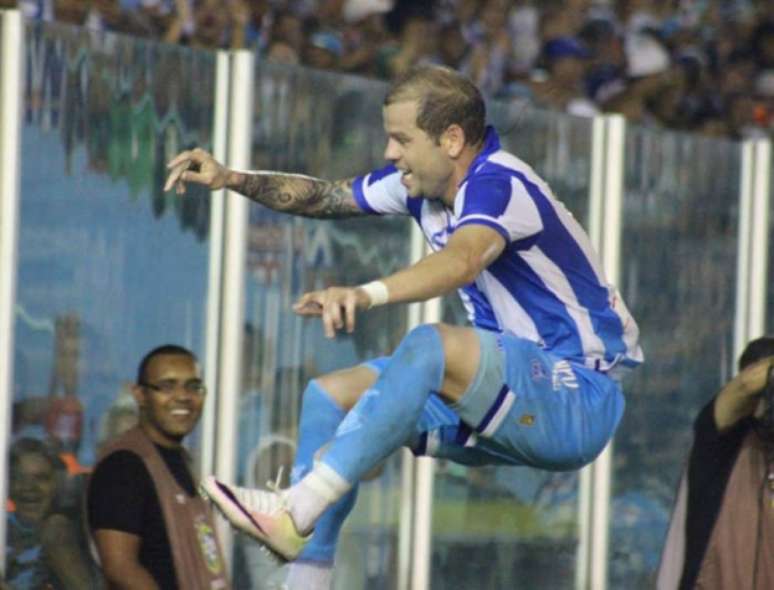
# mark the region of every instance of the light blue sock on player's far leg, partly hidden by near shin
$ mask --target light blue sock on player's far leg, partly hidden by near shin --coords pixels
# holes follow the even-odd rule
[[[302,398],[298,448],[291,474],[292,484],[298,483],[311,471],[315,453],[333,439],[345,415],[346,412],[317,381],[309,382]],[[356,497],[357,486],[323,513],[315,524],[311,541],[299,555],[299,560],[333,563],[341,526],[355,505]]]

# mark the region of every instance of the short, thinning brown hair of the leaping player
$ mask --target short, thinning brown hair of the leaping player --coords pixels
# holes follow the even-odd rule
[[[468,78],[444,66],[416,66],[398,77],[387,91],[384,106],[417,100],[416,125],[436,142],[450,125],[459,125],[465,142],[484,138],[486,106],[481,92]]]

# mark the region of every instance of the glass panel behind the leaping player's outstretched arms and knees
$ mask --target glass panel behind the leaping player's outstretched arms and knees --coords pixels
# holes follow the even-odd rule
[[[268,64],[256,77],[254,167],[337,179],[383,164],[382,84]],[[352,336],[329,341],[319,320],[301,319],[291,304],[306,291],[405,266],[410,222],[302,220],[253,205],[248,240],[238,475],[263,486],[280,466],[290,472],[306,382],[390,353],[406,330],[405,307],[377,308],[359,316]],[[395,587],[399,489],[397,458],[360,487],[342,533],[336,588]],[[255,543],[237,539],[237,587],[275,587],[283,576]]]

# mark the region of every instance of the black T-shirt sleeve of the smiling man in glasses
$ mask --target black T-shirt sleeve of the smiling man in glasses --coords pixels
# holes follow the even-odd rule
[[[138,455],[131,451],[108,455],[97,465],[89,482],[89,527],[140,535],[151,493],[155,493],[153,482]]]

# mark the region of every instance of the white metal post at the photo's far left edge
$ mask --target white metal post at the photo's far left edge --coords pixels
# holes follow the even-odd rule
[[[0,498],[8,497],[8,446],[13,404],[14,308],[21,175],[21,116],[24,88],[24,20],[18,10],[0,11]],[[3,504],[5,506],[5,504]],[[6,518],[0,519],[5,547]],[[5,574],[5,552],[0,557]]]

